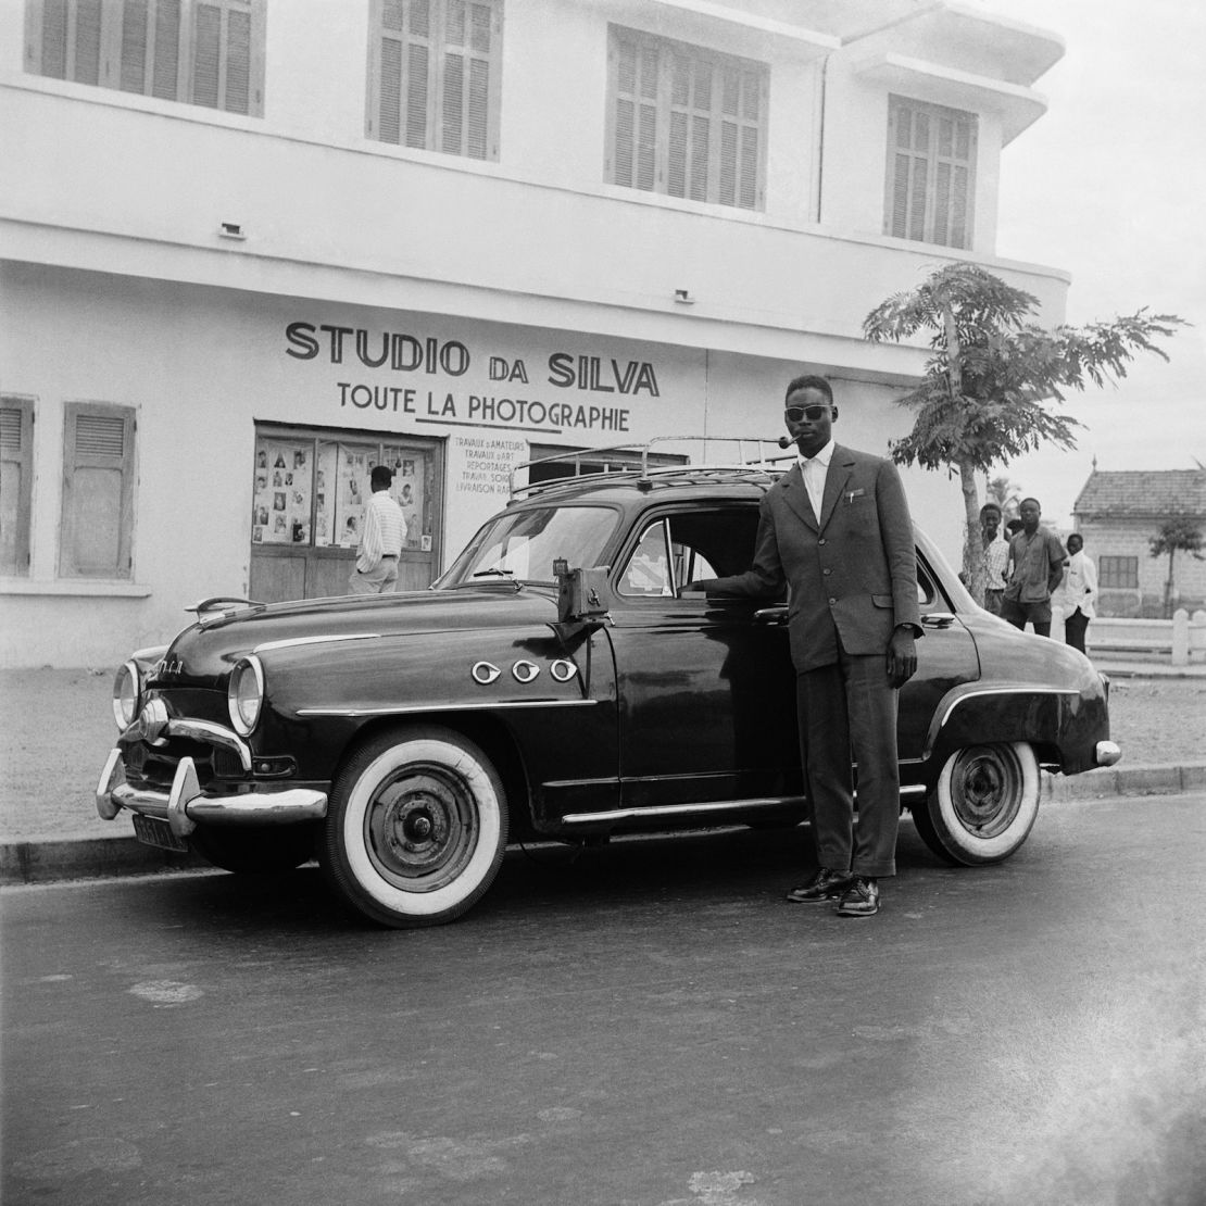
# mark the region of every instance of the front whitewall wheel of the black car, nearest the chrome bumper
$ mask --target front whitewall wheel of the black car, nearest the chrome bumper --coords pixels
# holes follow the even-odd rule
[[[451,921],[493,882],[507,797],[481,748],[447,728],[380,733],[332,789],[321,862],[365,917],[396,927]]]

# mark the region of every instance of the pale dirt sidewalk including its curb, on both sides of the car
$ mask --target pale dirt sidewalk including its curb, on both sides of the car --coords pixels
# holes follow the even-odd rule
[[[1206,790],[1206,666],[1100,662],[1114,684],[1114,767],[1043,775],[1043,802]],[[104,821],[94,792],[116,728],[113,672],[0,672],[0,884],[207,866],[142,845],[130,820]]]

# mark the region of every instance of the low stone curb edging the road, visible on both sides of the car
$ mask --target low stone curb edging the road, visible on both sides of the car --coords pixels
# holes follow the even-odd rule
[[[1070,779],[1043,771],[1040,791],[1040,800],[1046,804],[1119,796],[1179,796],[1206,791],[1206,762],[1105,767]],[[135,837],[30,838],[0,843],[0,885],[7,886],[203,870],[212,868],[198,855],[144,845]]]

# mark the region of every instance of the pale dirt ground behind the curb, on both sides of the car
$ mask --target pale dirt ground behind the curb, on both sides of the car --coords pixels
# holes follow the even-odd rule
[[[116,730],[113,669],[0,671],[0,839],[129,835],[94,792]],[[1111,730],[1124,766],[1206,760],[1206,677],[1113,678]]]

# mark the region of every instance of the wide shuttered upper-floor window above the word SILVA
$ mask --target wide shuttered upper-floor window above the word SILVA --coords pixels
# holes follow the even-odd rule
[[[613,25],[607,180],[762,209],[768,80],[765,64]]]

